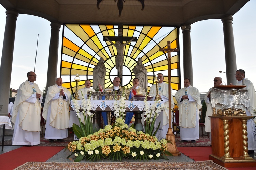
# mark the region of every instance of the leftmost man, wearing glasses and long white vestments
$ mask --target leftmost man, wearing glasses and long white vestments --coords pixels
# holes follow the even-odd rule
[[[40,119],[42,91],[34,83],[37,75],[30,71],[28,80],[23,82],[15,98],[12,122],[15,124],[12,145],[40,144]]]

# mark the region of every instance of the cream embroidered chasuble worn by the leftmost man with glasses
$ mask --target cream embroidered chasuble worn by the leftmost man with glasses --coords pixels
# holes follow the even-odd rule
[[[32,82],[31,82],[32,84]],[[12,114],[12,122],[15,123],[19,113],[19,126],[26,131],[39,132],[41,119],[41,100],[36,98],[36,93],[43,95],[37,84],[32,85],[28,80],[23,82],[18,89]]]

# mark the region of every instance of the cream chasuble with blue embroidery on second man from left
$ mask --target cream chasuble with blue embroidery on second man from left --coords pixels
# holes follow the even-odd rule
[[[66,99],[62,95],[59,96],[60,90],[63,89]],[[66,129],[69,127],[69,102],[70,92],[63,86],[57,84],[48,88],[44,108],[43,118],[47,120],[48,109],[50,111],[50,125],[56,129]]]

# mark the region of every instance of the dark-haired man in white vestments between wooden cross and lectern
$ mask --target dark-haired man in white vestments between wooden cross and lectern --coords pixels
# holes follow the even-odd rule
[[[184,79],[184,87],[176,92],[175,98],[179,106],[179,126],[181,140],[191,140],[196,143],[199,139],[199,109],[202,107],[197,88],[190,86],[190,79]]]

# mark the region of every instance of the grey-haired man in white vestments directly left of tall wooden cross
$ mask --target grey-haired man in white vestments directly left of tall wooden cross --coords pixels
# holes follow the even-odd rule
[[[165,78],[163,77],[162,73],[158,73],[157,76],[160,79],[159,82],[158,82],[158,93],[160,95],[160,100],[163,101],[165,106],[167,106],[167,107],[169,107],[169,109],[173,110],[173,108],[174,108],[173,97],[171,98],[171,106],[169,106],[168,84],[163,82],[163,80]],[[149,92],[148,95],[153,97],[152,100],[155,99],[155,96],[156,96],[156,85],[155,84],[153,84],[151,86],[150,92]],[[171,96],[172,96],[172,87],[171,87]],[[172,114],[171,114],[171,119],[173,119]],[[166,134],[167,134],[167,131],[168,131],[168,128],[169,128],[169,110],[168,109],[164,109],[161,112],[161,114],[158,116],[158,118],[156,119],[155,129],[157,128],[160,121],[161,121],[161,123],[160,123],[159,129],[158,129],[158,132],[156,133],[156,137],[158,139],[165,138]]]

